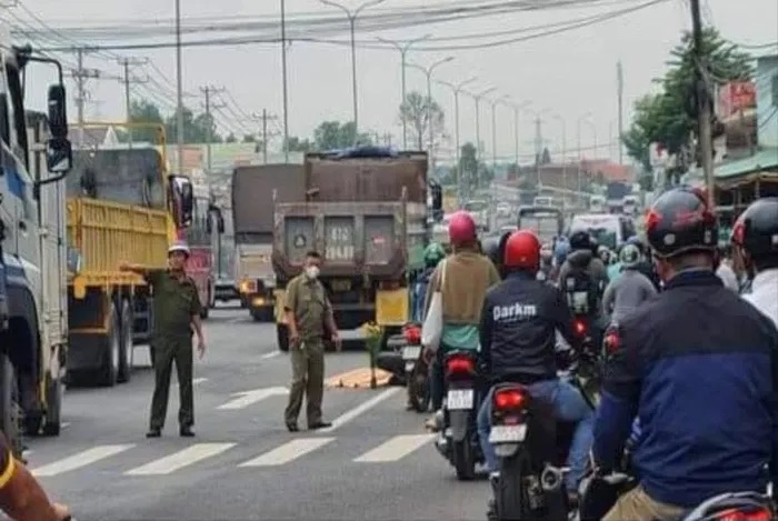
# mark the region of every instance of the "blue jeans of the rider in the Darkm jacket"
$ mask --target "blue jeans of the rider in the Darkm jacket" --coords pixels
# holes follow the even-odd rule
[[[578,389],[565,380],[540,381],[527,385],[527,389],[533,398],[550,403],[558,420],[577,423],[568,457],[570,472],[565,478],[565,484],[569,491],[578,490],[578,483],[584,478],[587,459],[591,450],[595,412],[586,403]],[[493,392],[495,388],[492,387],[483,399],[481,409],[478,411],[478,438],[490,472],[499,470],[495,448],[489,443],[491,397]]]

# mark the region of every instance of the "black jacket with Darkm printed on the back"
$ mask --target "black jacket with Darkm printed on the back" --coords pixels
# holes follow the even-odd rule
[[[557,378],[556,331],[576,347],[572,317],[562,293],[535,279],[511,273],[491,288],[481,312],[480,362],[492,382],[533,383]]]

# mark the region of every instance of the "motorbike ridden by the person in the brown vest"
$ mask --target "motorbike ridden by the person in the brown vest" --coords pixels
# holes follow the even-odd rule
[[[478,442],[476,417],[478,414],[479,377],[476,353],[452,351],[443,359],[446,400],[437,414],[440,424],[436,448],[449,460],[460,481],[476,477],[476,465],[483,463]]]

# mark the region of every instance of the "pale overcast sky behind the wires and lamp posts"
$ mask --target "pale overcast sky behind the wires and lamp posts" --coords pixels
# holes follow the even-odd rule
[[[345,6],[357,7],[362,0],[340,0]],[[9,0],[0,1],[0,6]],[[442,0],[429,0],[440,4]],[[128,24],[168,24],[174,16],[173,0],[20,0],[20,4],[9,8],[2,17],[13,26],[19,19],[27,27],[43,29],[32,18],[34,13],[50,28],[72,26],[97,26],[127,20]],[[451,0],[461,4],[460,0]],[[478,2],[476,2],[478,3]],[[536,2],[542,4],[542,1]],[[422,34],[433,38],[482,34],[493,31],[518,31],[523,28],[545,26],[553,22],[575,20],[630,7],[637,0],[612,1],[599,8],[538,9],[517,11],[496,17],[469,18],[446,23],[413,26],[407,29],[383,31],[360,31],[356,22],[358,41],[375,42],[377,37],[391,40],[408,40]],[[363,12],[380,13],[388,9],[403,9],[422,6],[422,0],[385,0],[380,6],[367,8]],[[225,16],[279,16],[279,0],[181,0],[182,17]],[[327,7],[319,0],[286,0],[288,17],[296,12],[316,16],[340,16],[341,11]],[[26,8],[26,9],[24,9]],[[0,7],[0,13],[3,12]],[[142,13],[142,14],[141,14]],[[762,44],[778,41],[778,2],[776,0],[702,0],[704,23],[716,26],[731,41],[744,44]],[[528,159],[535,149],[536,114],[541,113],[540,130],[545,146],[553,158],[559,158],[565,144],[567,157],[573,158],[580,138],[581,147],[591,148],[597,143],[598,157],[616,159],[618,136],[617,62],[624,67],[625,129],[629,126],[631,106],[636,99],[656,87],[651,80],[666,70],[670,49],[679,41],[681,31],[690,27],[688,0],[667,0],[614,20],[579,28],[568,32],[477,50],[409,51],[408,61],[427,66],[449,56],[448,63],[436,69],[433,79],[459,82],[478,77],[472,90],[493,87],[495,96],[509,96],[515,103],[527,103],[530,111],[522,111],[519,120],[521,160]],[[201,34],[199,37],[212,37]],[[193,36],[192,38],[198,38]],[[330,39],[348,40],[348,22],[343,18],[342,28]],[[510,38],[510,37],[507,37]],[[172,41],[172,37],[169,37]],[[488,39],[487,39],[488,40]],[[116,41],[116,39],[113,40]],[[149,41],[149,38],[133,42]],[[480,40],[449,40],[429,43],[446,44],[481,43]],[[41,41],[36,43],[40,44]],[[67,33],[49,33],[44,44],[61,47],[86,43],[73,40]],[[94,40],[90,40],[94,42]],[[20,43],[20,42],[17,42]],[[375,44],[375,43],[371,43]],[[421,44],[419,46],[421,47]],[[778,48],[775,48],[778,52]],[[176,86],[176,61],[173,49],[116,51],[117,54],[132,58],[148,58],[156,66],[138,66],[133,74],[147,80],[132,86],[133,97],[156,99],[171,108]],[[58,54],[68,66],[76,62],[73,53]],[[122,120],[124,118],[123,86],[116,79],[121,68],[114,58],[87,56],[86,67],[98,69],[102,78],[87,82],[90,101],[87,116],[97,120]],[[215,104],[229,107],[217,111],[217,121],[222,130],[236,132],[261,131],[259,119],[249,117],[261,114],[263,110],[272,117],[268,129],[280,134],[282,130],[282,74],[280,43],[255,43],[233,47],[186,48],[182,52],[183,89],[200,93],[203,86],[225,88],[215,96]],[[161,74],[163,73],[164,77]],[[50,71],[31,72],[32,87],[28,99],[33,106],[43,107],[46,84],[51,80]],[[292,42],[288,51],[289,79],[289,133],[309,137],[322,120],[351,120],[351,58],[348,46],[332,46],[313,42]],[[395,144],[401,142],[401,126],[398,106],[401,99],[400,53],[392,49],[357,49],[357,79],[360,130],[385,134],[390,132]],[[73,82],[68,83],[73,94]],[[422,72],[407,69],[407,90],[426,91],[426,77]],[[433,83],[432,97],[446,113],[446,129],[453,134],[453,94],[450,89]],[[71,96],[72,98],[72,96]],[[201,106],[202,94],[187,98],[184,103]],[[201,110],[201,107],[198,107]],[[74,106],[69,107],[71,119],[76,116]],[[533,111],[533,113],[532,113]],[[476,117],[472,99],[460,98],[460,141],[475,141]],[[491,107],[481,102],[480,129],[485,143],[483,154],[490,158],[492,143],[498,157],[512,158],[515,153],[513,111],[497,108],[497,136],[492,139]],[[580,124],[578,122],[581,121]],[[577,131],[580,127],[580,134]],[[565,130],[565,132],[562,132]],[[565,139],[562,137],[565,133]],[[170,137],[174,139],[174,137]],[[276,140],[280,146],[280,140]],[[594,156],[585,151],[585,157]]]

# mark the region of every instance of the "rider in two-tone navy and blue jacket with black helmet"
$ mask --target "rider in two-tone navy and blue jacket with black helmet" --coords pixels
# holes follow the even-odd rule
[[[604,521],[671,521],[714,495],[778,482],[778,330],[716,277],[704,193],[667,191],[646,229],[665,291],[615,328],[594,444],[596,467],[614,469],[637,415],[640,483]]]

